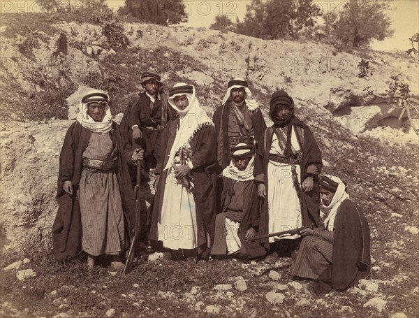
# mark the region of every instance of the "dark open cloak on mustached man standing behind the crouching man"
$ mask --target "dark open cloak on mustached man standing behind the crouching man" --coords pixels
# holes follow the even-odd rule
[[[228,99],[225,104],[217,108],[214,112],[214,116],[212,118],[214,125],[215,125],[215,133],[216,133],[216,153],[217,153],[217,161],[219,166],[221,167],[221,171],[223,168],[226,168],[228,164],[230,164],[230,143],[228,142],[228,119],[230,116],[230,105],[231,99]],[[247,107],[244,104],[244,107]],[[251,124],[253,133],[255,135],[255,140],[259,140],[260,136],[263,135],[263,131],[266,129],[265,120],[263,120],[262,111],[260,108],[256,108],[256,110],[247,110],[250,112]],[[221,154],[221,155],[219,155]],[[219,171],[219,172],[221,172]]]

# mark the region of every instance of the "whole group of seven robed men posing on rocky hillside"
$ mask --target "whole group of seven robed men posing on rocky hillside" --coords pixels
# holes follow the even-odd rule
[[[143,73],[141,84],[144,92],[128,104],[115,133],[114,147],[108,147],[100,156],[96,150],[103,147],[101,135],[112,136],[113,132],[102,129],[106,112],[110,114],[109,96],[93,92],[82,100],[80,112],[90,115],[94,127],[79,116],[61,151],[57,197],[63,202],[54,224],[55,236],[59,238],[54,244],[57,259],[71,254],[67,251],[69,246],[74,254],[77,243],[68,245],[72,235],[78,235],[82,241],[79,249],[91,259],[101,254],[123,254],[132,238],[131,194],[138,178],[135,171],[141,163],[142,199],[149,202],[149,207],[144,201],[140,204],[138,248],[151,243],[154,249],[171,252],[175,259],[187,256],[207,259],[212,255],[219,259],[264,258],[265,263],[271,264],[278,257],[293,253],[293,275],[317,280],[318,292],[331,288],[343,291],[369,275],[367,221],[358,205],[349,199],[344,182],[321,175],[321,151],[307,124],[295,116],[294,101],[284,90],[272,94],[269,115],[274,124],[266,127],[245,80],[235,78],[228,82],[221,106],[212,119],[201,108],[193,85],[179,82],[167,96],[161,77],[154,71]],[[101,104],[106,111],[101,113],[101,119],[95,119],[93,108]],[[75,131],[82,129],[87,130],[75,136]],[[89,138],[84,137],[86,134]],[[98,135],[98,140],[90,135]],[[84,140],[81,148],[80,140]],[[117,164],[105,170],[103,166],[112,154]],[[67,170],[74,172],[61,173],[64,166],[69,166],[66,161],[71,160],[73,164]],[[90,161],[99,162],[96,171]],[[113,171],[119,178],[119,205],[124,213],[115,217],[108,212],[101,228],[119,233],[119,240],[115,239],[119,249],[103,247],[112,238],[108,235],[109,238],[101,239],[102,249],[91,254],[89,244],[84,241],[94,226],[91,219],[96,212],[84,212],[83,205],[95,205],[92,200],[96,200],[94,192],[99,189],[87,189],[85,181],[84,186],[80,185],[80,173],[82,181],[89,175],[102,173],[99,179],[103,184],[104,175]],[[155,195],[149,187],[153,178]],[[105,188],[113,189],[112,186]],[[82,203],[82,190],[91,193],[88,203]],[[74,199],[75,191],[78,200]],[[64,199],[64,192],[73,200]],[[110,201],[108,192],[103,196],[106,200],[102,201]],[[109,205],[107,209],[112,210]],[[321,205],[326,215],[324,224]],[[66,219],[68,213],[63,213],[63,206],[73,211],[75,219]],[[115,219],[121,218],[125,220],[123,234],[120,220],[115,223]],[[77,226],[78,219],[81,231],[73,234],[70,229]],[[300,249],[295,253],[298,245]],[[336,246],[339,251],[334,252]],[[95,261],[91,263],[96,265]]]

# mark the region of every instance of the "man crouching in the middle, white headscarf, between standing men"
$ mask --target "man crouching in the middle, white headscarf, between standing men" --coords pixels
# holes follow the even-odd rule
[[[253,146],[238,144],[232,148],[231,158],[222,173],[221,213],[216,215],[211,254],[234,254],[245,259],[264,256],[265,249],[258,242],[248,242],[256,237],[260,217]]]

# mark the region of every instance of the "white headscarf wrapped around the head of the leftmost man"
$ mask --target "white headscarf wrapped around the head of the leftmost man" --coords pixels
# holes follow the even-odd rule
[[[105,94],[108,97],[105,98],[103,96],[94,96],[94,94]],[[89,97],[89,99],[87,99],[86,101],[84,101],[84,103],[80,101],[79,113],[77,115],[76,120],[80,122],[82,127],[84,127],[85,129],[89,129],[89,131],[93,131],[94,133],[108,133],[112,130],[112,114],[110,113],[110,108],[108,104],[108,101],[110,101],[108,93],[98,89],[92,89],[91,91],[87,92],[87,94],[84,95],[83,98],[88,95],[92,96]],[[104,112],[105,116],[103,117],[101,122],[95,122],[93,118],[91,118],[87,113],[87,105],[89,103],[106,104]]]

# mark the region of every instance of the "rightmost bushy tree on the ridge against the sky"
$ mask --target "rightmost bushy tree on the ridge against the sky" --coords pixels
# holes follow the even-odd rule
[[[361,48],[373,40],[382,41],[393,34],[386,14],[390,0],[349,0],[341,12],[331,13],[325,29],[342,48]]]

